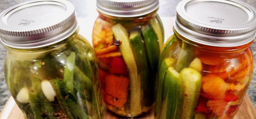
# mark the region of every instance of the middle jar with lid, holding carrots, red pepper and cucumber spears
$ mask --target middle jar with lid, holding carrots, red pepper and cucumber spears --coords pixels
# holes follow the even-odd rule
[[[97,0],[93,46],[104,102],[109,110],[133,117],[151,109],[163,45],[158,0]]]

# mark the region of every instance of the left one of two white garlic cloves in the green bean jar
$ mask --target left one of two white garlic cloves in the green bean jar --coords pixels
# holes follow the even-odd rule
[[[16,99],[21,103],[29,102],[29,90],[27,89],[27,87],[23,87],[21,91],[19,91]]]

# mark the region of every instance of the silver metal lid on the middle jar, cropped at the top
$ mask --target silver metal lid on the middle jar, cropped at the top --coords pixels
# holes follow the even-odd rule
[[[137,17],[158,9],[159,0],[97,0],[97,9],[115,17]]]

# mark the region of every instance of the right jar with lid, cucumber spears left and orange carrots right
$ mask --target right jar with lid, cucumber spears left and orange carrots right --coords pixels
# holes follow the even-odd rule
[[[255,8],[184,0],[176,11],[159,59],[155,118],[232,119],[253,74]]]

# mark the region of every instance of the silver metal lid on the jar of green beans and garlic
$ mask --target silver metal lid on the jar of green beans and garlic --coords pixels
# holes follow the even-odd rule
[[[0,39],[18,49],[47,46],[78,28],[74,6],[66,0],[31,0],[0,14]]]

